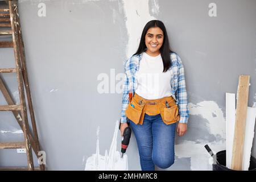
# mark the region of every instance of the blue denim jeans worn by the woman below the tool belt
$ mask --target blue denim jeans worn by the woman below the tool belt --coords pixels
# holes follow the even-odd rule
[[[168,168],[174,164],[174,142],[176,123],[166,125],[161,115],[144,116],[143,125],[130,127],[137,140],[142,171],[154,171],[155,165]]]

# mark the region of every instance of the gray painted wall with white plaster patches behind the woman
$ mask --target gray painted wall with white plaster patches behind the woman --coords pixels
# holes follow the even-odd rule
[[[38,16],[40,2],[46,4],[45,17]],[[208,15],[211,2],[217,5],[216,17]],[[115,76],[123,73],[123,62],[137,49],[136,39],[144,24],[159,19],[166,25],[171,48],[183,60],[192,110],[187,134],[176,137],[175,164],[167,170],[210,170],[209,154],[203,146],[225,150],[225,93],[237,92],[239,75],[250,75],[248,105],[256,102],[256,1],[129,3],[19,1],[28,76],[47,169],[83,170],[85,160],[96,152],[98,127],[101,155],[109,150],[121,112],[120,80]],[[0,59],[1,68],[14,67],[13,49],[0,49]],[[18,98],[15,74],[1,77]],[[98,86],[108,81],[109,92],[99,93]],[[0,105],[4,104],[0,94]],[[15,134],[20,129],[11,113],[0,113],[0,130],[1,142],[23,140],[22,134]],[[117,143],[119,151],[119,135]],[[254,156],[255,146],[254,139]],[[140,170],[134,135],[127,156],[129,170]],[[26,166],[26,155],[1,150],[0,161],[1,166]]]

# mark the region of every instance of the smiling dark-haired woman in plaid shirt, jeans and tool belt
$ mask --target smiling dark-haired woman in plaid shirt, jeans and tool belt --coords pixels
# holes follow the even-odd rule
[[[183,136],[188,113],[183,64],[170,50],[163,22],[151,20],[125,64],[120,126],[121,135],[128,124],[133,130],[143,171],[174,163],[176,122]]]

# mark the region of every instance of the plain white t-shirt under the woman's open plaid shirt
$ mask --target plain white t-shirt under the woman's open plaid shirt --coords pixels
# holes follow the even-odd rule
[[[150,56],[143,52],[139,70],[135,74],[138,81],[135,93],[148,100],[171,96],[171,74],[170,71],[163,73],[161,54]]]

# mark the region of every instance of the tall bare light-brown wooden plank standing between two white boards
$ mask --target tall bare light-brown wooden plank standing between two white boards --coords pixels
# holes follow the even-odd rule
[[[237,90],[236,125],[234,130],[231,168],[240,171],[242,170],[243,162],[243,144],[245,139],[245,124],[250,84],[249,81],[250,76],[241,75],[239,77]]]

